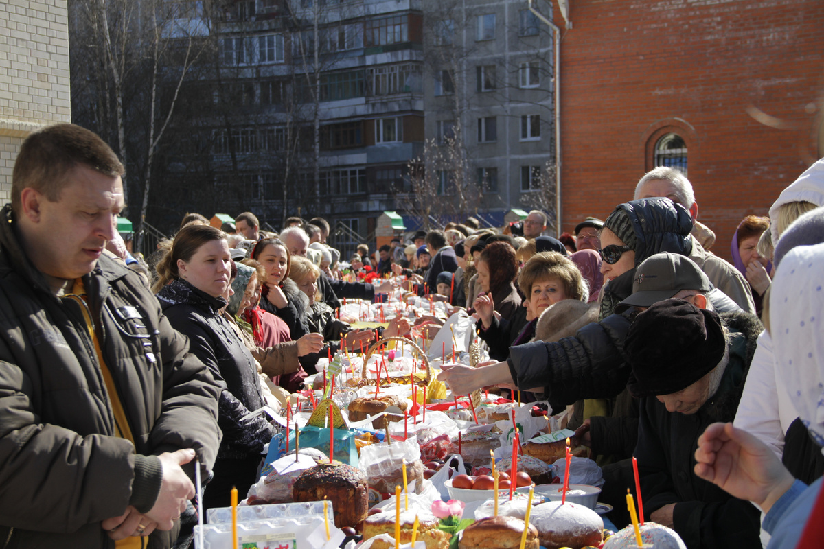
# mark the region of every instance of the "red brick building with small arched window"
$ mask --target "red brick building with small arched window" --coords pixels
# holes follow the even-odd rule
[[[824,156],[821,0],[567,0],[571,28],[552,3],[564,230],[630,200],[675,133],[729,258],[738,221]]]

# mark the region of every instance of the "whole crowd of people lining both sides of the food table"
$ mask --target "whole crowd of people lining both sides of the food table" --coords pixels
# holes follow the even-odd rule
[[[195,468],[205,508],[256,481],[276,428],[249,412],[282,407],[341,347],[438,330],[335,314],[399,284],[476,320],[493,361],[444,366],[453,393],[499,386],[568,412],[619,528],[637,458],[645,517],[687,547],[822,539],[824,161],[742,220],[733,263],[667,167],[558,239],[533,211],[341,258],[321,217],[273,234],[250,212],[222,229],[190,213],[147,262],[116,231],[123,174],[71,124],[16,159],[0,227],[2,547],[185,547]]]

